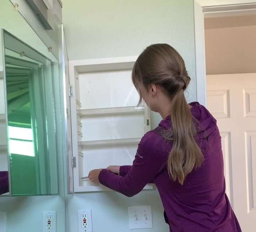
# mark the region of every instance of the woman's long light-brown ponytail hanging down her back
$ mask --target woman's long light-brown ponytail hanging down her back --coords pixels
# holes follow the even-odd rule
[[[194,140],[196,129],[192,114],[182,90],[172,99],[171,133],[173,145],[167,161],[169,176],[180,184],[193,168],[201,166],[204,158],[201,149]]]

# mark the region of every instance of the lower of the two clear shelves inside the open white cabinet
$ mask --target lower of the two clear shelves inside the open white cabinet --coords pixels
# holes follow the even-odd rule
[[[104,146],[104,145],[127,145],[127,144],[138,144],[141,138],[132,139],[108,139],[108,140],[94,140],[94,141],[81,141],[78,142],[81,146]]]

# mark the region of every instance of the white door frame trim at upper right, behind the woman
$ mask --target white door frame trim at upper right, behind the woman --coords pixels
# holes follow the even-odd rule
[[[197,101],[206,104],[204,18],[256,14],[256,0],[194,0]]]

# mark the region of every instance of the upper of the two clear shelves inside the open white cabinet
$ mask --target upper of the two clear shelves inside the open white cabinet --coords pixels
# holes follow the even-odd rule
[[[82,116],[142,113],[144,112],[144,106],[112,107],[112,108],[101,108],[101,109],[80,109],[78,110],[78,112]]]

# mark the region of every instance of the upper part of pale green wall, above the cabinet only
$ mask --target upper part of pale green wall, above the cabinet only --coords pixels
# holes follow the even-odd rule
[[[168,43],[182,55],[191,76],[185,93],[196,100],[193,0],[63,0],[69,60],[139,55]],[[153,124],[160,120],[153,114]]]

